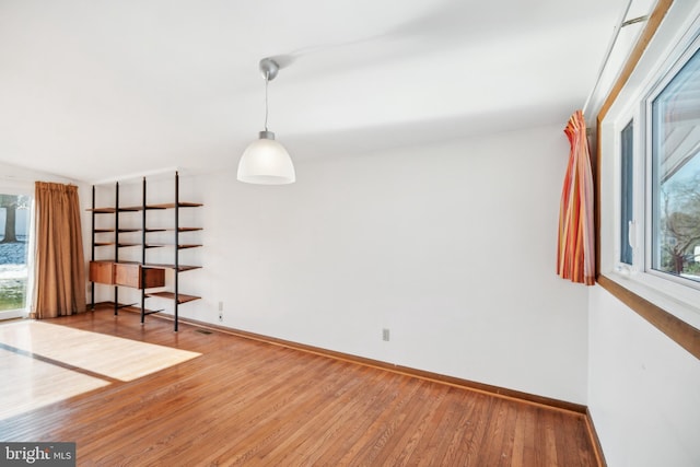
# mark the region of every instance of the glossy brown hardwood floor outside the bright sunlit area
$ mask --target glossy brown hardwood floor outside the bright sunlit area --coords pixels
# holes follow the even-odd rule
[[[0,441],[74,441],[79,466],[597,465],[581,413],[131,313],[43,323],[201,353],[0,420]]]

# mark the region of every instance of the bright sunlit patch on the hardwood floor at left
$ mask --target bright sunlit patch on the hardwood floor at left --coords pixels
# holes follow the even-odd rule
[[[201,353],[28,319],[0,325],[0,420]]]

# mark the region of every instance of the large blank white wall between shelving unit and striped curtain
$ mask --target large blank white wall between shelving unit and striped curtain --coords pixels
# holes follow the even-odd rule
[[[587,292],[555,275],[562,128],[300,157],[291,186],[241,184],[235,161],[184,177],[205,267],[180,313],[585,402]]]

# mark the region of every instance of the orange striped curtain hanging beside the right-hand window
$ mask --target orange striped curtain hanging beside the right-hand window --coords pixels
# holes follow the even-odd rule
[[[564,129],[571,143],[559,207],[557,273],[572,282],[595,283],[593,173],[583,113],[576,110]]]

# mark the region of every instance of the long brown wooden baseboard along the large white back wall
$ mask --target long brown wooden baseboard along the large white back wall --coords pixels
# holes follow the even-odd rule
[[[98,310],[101,307],[112,307],[114,306],[109,302],[103,302],[100,304],[95,304],[95,308]],[[125,307],[121,311],[130,312],[130,313],[140,313],[137,308]],[[149,318],[160,318],[172,320],[173,317],[170,315],[151,315]],[[368,359],[364,357],[358,357],[349,353],[337,352],[335,350],[323,349],[319,347],[307,346],[304,343],[299,343],[290,340],[278,339],[275,337],[264,336],[260,334],[249,332],[241,329],[230,328],[225,326],[219,326],[211,323],[205,323],[197,319],[178,317],[180,323],[186,323],[199,328],[209,329],[218,332],[224,332],[232,336],[242,337],[245,339],[257,340],[260,342],[270,343],[273,346],[285,347],[289,349],[295,349],[303,352],[314,353],[316,355],[331,358],[336,360],[341,360],[346,362],[351,362],[355,364],[361,364],[365,366],[372,366],[385,371],[390,371],[394,373],[404,374],[407,376],[418,377],[421,380],[432,381],[441,384],[446,384],[451,386],[460,387],[464,389],[469,389],[478,393],[488,394],[491,396],[498,396],[501,398],[517,400],[521,402],[533,404],[537,406],[544,406],[550,409],[564,410],[568,412],[575,412],[582,416],[586,415],[587,407],[581,404],[569,402],[565,400],[559,400],[550,397],[538,396],[535,394],[524,393],[521,390],[509,389],[500,386],[493,386],[490,384],[478,383],[475,381],[463,380],[455,376],[447,376],[440,373],[433,373],[424,370],[417,370],[409,366],[396,365],[393,363],[383,362],[381,360]]]

